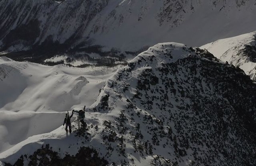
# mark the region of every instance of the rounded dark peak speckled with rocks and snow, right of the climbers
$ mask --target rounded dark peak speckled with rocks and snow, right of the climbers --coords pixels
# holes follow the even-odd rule
[[[226,81],[238,82],[230,85]],[[249,101],[251,95],[246,95],[248,100],[241,100],[239,95],[243,90],[234,91],[236,86],[245,84],[244,90],[254,95],[255,85],[241,69],[224,65],[205,50],[176,43],[157,44],[130,61],[105,86],[106,94],[109,92],[105,104],[125,107],[114,121],[118,121],[117,125],[111,122],[110,131],[118,138],[132,141],[133,148],[142,157],[155,154],[152,161],[159,159],[167,165],[195,162],[243,165],[246,160],[238,157],[239,151],[245,146],[255,146],[255,138],[242,141],[245,133],[238,133],[243,127],[235,127],[236,123],[249,127],[244,122],[249,114],[254,114],[255,119],[255,104]],[[235,103],[232,98],[236,98]],[[238,101],[245,109],[241,110],[236,104]],[[113,114],[117,108],[109,110]],[[241,111],[245,111],[242,116]],[[255,125],[254,120],[251,119],[250,124]],[[251,130],[251,134],[254,132]],[[233,142],[233,138],[238,141]],[[230,152],[230,146],[240,150]],[[227,151],[232,158],[236,156],[235,161],[227,156]],[[253,148],[246,151],[247,155],[255,152]]]

